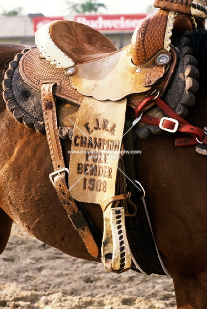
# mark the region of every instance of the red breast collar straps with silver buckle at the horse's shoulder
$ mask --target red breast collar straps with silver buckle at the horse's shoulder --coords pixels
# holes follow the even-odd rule
[[[155,96],[150,96],[146,99],[144,99],[136,108],[135,108],[135,117],[137,118],[139,112],[146,107]],[[154,99],[154,103],[161,108],[165,114],[167,114],[170,118],[173,118],[178,121],[178,130],[179,132],[183,132],[186,134],[191,134],[192,137],[190,138],[178,138],[175,140],[175,146],[185,146],[185,145],[195,145],[197,144],[197,140],[202,141],[204,144],[207,144],[207,134],[204,133],[204,131],[198,127],[190,125],[186,120],[184,120],[181,116],[176,114],[165,102],[163,102],[160,98]],[[152,117],[143,115],[141,118],[142,122],[146,122],[151,125],[157,125],[160,124],[160,118]],[[175,123],[170,120],[164,120],[162,127],[165,129],[173,130],[175,127]]]

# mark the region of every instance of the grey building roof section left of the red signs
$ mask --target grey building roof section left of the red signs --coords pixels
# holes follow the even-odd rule
[[[29,16],[0,16],[0,38],[34,35],[32,19]]]

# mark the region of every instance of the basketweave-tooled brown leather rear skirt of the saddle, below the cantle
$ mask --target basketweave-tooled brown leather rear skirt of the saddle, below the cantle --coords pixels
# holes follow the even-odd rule
[[[49,61],[40,57],[37,48],[25,53],[19,62],[19,70],[24,81],[40,91],[42,83],[57,83],[55,96],[80,105],[84,96],[75,90],[63,69],[51,66]]]

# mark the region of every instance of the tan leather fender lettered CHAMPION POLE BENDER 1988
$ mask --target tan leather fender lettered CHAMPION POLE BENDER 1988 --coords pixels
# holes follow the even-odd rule
[[[115,195],[125,113],[126,99],[100,102],[86,97],[81,104],[69,167],[69,190],[75,200],[100,204]]]

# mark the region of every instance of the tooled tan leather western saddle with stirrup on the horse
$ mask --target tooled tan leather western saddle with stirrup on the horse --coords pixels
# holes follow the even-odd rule
[[[94,257],[98,257],[99,248],[80,203],[101,205],[102,261],[104,267],[113,272],[131,267],[124,222],[125,216],[134,216],[136,205],[130,201],[131,193],[126,187],[123,156],[112,159],[109,154],[110,151],[120,154],[123,150],[126,105],[135,108],[154,92],[159,97],[164,94],[178,59],[176,50],[170,46],[172,31],[177,35],[187,30],[192,32],[195,19],[186,14],[192,15],[193,10],[202,12],[202,17],[206,14],[203,6],[199,6],[202,0],[197,0],[196,8],[195,0],[186,1],[183,11],[184,2],[155,0],[155,6],[169,11],[159,9],[143,19],[134,31],[131,44],[121,50],[95,29],[63,20],[39,28],[35,37],[38,48],[31,49],[20,59],[22,78],[41,91],[54,167],[50,180],[73,226]],[[71,150],[80,153],[86,150],[86,153],[71,153],[69,169],[58,134],[56,97],[80,107],[75,123],[70,112],[67,117],[74,127]],[[108,153],[108,157],[99,155],[102,152]],[[93,158],[97,153],[98,158],[96,155]]]

